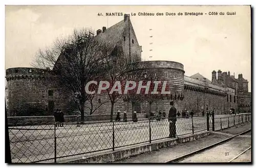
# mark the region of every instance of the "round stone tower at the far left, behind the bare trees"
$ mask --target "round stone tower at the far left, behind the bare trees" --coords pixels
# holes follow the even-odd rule
[[[6,80],[11,115],[24,115],[20,113],[28,109],[49,111],[51,80],[48,70],[25,67],[9,68],[6,70]]]

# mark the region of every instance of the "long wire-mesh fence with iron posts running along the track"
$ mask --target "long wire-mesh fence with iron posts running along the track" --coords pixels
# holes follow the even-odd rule
[[[176,137],[205,130],[222,130],[248,122],[250,114],[177,118]],[[165,118],[138,122],[27,123],[8,125],[12,162],[57,162],[61,158],[115,150],[139,143],[169,138]]]

